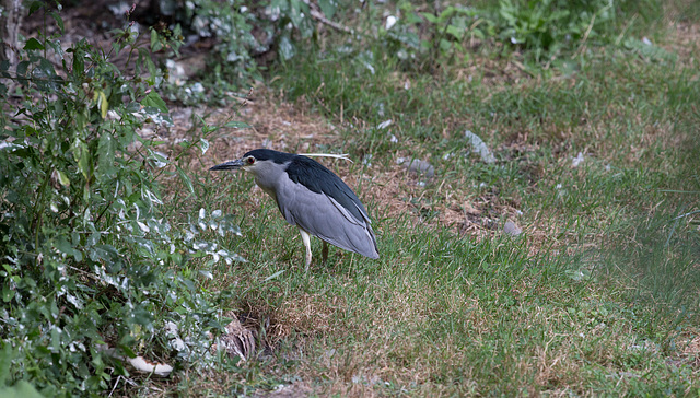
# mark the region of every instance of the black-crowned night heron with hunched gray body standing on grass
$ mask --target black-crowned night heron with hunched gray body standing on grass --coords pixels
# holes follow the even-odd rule
[[[320,163],[306,156],[253,150],[242,159],[211,167],[253,173],[255,183],[275,199],[284,219],[299,226],[306,247],[306,268],[311,264],[311,237],[370,258],[380,258],[374,231],[364,206],[346,183]]]

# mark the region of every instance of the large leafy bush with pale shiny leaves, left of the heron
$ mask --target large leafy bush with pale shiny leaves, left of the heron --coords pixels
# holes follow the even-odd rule
[[[133,60],[127,77],[85,40],[63,51],[62,20],[45,12],[59,33],[27,39],[19,65],[1,71],[21,99],[0,90],[0,388],[19,394],[28,382],[47,396],[85,395],[128,375],[115,356],[208,355],[217,308],[180,269],[197,257],[209,258],[203,267],[241,258],[202,235],[237,232],[221,212],[202,209],[186,225],[163,218],[155,175],[171,161],[138,130],[170,117],[138,33],[114,32],[114,55]],[[151,49],[178,45],[177,34],[151,33]],[[208,147],[201,139],[185,150],[194,145]],[[189,335],[188,347],[177,351],[158,331],[166,320]]]

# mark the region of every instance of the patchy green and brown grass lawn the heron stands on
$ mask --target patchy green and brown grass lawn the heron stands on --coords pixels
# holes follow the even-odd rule
[[[674,219],[697,210],[700,191],[696,61],[607,48],[574,59],[572,74],[487,79],[485,65],[509,70],[495,57],[475,60],[467,79],[370,52],[374,73],[366,57],[332,50],[271,73],[287,101],[336,125],[323,148],[355,160],[329,164],[358,187],[381,259],[331,249],[327,268],[305,273],[296,229],[249,176],[200,175],[197,199],[176,208],[236,214],[243,236],[222,245],[248,259],[215,266],[205,286],[235,292],[228,305],[265,350],[207,377],[186,373],[179,388],[697,395],[698,216]],[[495,164],[467,154],[467,129]],[[402,171],[398,156],[430,161],[436,176]],[[506,219],[525,233],[503,234]]]

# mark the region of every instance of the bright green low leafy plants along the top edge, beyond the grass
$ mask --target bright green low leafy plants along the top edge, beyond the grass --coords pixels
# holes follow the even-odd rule
[[[657,9],[651,0],[500,0],[438,10],[399,1],[396,16],[389,17],[393,23],[380,28],[380,39],[388,54],[419,66],[467,60],[467,43],[475,39],[500,42],[540,61],[587,42],[610,43],[619,36],[621,22]]]

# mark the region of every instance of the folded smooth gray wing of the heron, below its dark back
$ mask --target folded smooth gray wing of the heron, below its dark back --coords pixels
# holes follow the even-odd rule
[[[278,200],[277,206],[290,224],[342,249],[370,258],[380,257],[374,231],[364,209],[358,208],[358,213],[362,214],[358,220],[327,195],[313,192],[290,179],[279,185],[277,198],[284,198]]]

